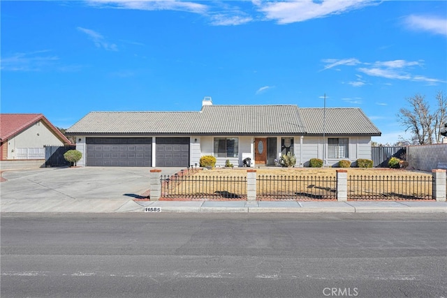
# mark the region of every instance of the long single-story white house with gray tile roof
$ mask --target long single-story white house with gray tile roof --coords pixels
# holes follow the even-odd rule
[[[323,140],[323,114],[325,131]],[[371,137],[381,135],[358,108],[297,105],[212,105],[199,112],[90,112],[68,128],[82,152],[78,165],[187,167],[212,155],[242,166],[275,165],[288,151],[296,166],[311,158],[336,165],[371,158]]]

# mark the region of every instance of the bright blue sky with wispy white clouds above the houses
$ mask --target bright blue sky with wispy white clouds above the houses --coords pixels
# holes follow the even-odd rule
[[[214,104],[396,114],[447,94],[446,1],[1,1],[1,112],[68,128],[91,111]]]

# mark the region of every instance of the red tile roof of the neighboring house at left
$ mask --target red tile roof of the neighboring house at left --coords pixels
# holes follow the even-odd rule
[[[71,142],[62,134],[59,129],[54,127],[43,114],[0,114],[0,140],[1,142],[8,140],[8,138],[17,135],[35,124],[38,121],[43,121],[47,126],[61,139],[65,144]]]

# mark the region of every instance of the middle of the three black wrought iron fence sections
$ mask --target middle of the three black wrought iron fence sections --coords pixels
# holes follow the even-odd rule
[[[260,175],[256,178],[256,197],[258,200],[336,200],[336,178]]]

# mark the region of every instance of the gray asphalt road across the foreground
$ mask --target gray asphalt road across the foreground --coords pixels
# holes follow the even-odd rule
[[[4,214],[1,297],[447,297],[445,214]]]

